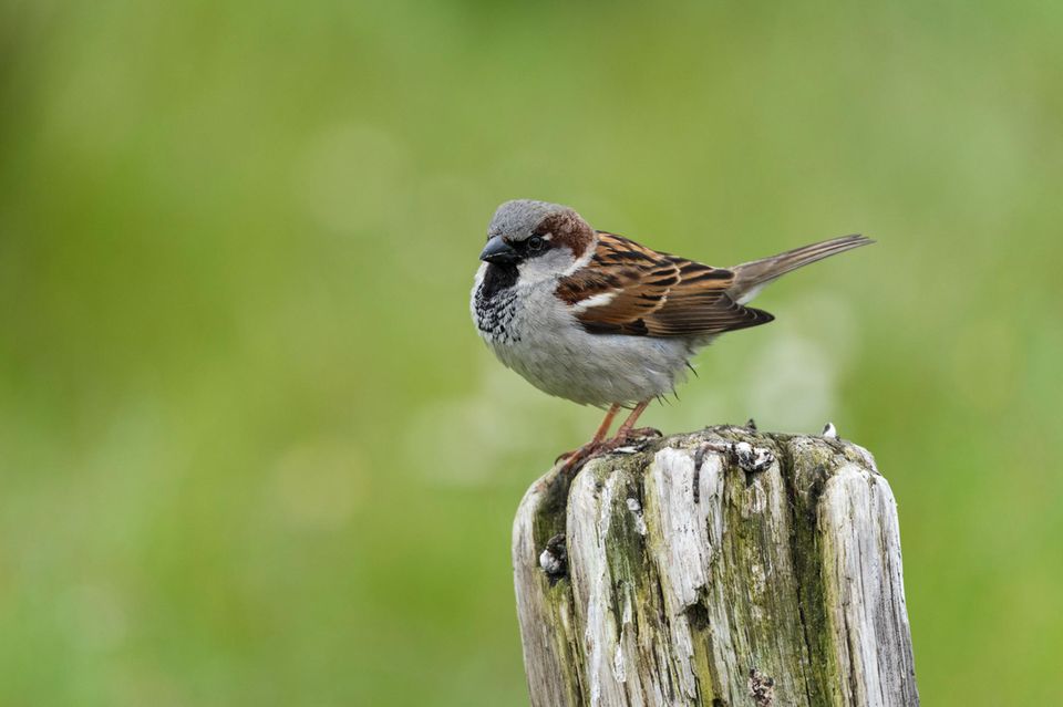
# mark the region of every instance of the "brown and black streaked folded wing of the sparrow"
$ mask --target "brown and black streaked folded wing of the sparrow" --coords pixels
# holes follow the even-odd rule
[[[703,336],[774,319],[732,300],[733,283],[730,270],[599,231],[590,266],[563,278],[557,297],[596,334]]]

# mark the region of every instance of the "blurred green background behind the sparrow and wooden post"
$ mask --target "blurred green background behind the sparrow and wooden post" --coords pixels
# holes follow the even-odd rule
[[[927,705],[1063,661],[1063,4],[0,0],[0,704],[524,705],[512,514],[599,412],[467,312],[495,206],[758,299],[667,432],[871,449]]]

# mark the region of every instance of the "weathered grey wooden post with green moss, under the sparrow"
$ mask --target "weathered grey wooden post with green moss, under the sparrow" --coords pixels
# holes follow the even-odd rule
[[[513,529],[534,707],[918,705],[892,492],[741,427],[555,468]]]

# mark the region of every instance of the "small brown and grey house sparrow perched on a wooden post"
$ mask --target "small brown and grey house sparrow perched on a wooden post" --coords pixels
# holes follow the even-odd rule
[[[774,318],[745,306],[778,277],[871,243],[844,236],[712,268],[598,231],[572,209],[506,201],[487,227],[472,293],[479,335],[506,366],[540,391],[607,407],[591,440],[568,464],[632,437],[650,402],[685,377],[690,358],[723,332]],[[631,414],[607,441],[621,407]]]

